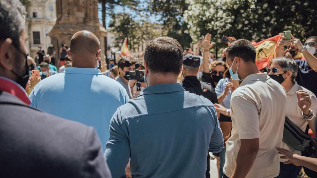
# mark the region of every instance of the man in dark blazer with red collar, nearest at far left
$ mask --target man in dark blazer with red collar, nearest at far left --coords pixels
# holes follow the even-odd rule
[[[111,177],[92,127],[29,106],[23,12],[0,1],[0,177]]]

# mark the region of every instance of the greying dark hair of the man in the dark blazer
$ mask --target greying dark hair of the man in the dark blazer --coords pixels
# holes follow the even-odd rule
[[[24,29],[25,9],[18,0],[0,1],[0,39],[10,38],[13,45],[20,49],[20,34]]]

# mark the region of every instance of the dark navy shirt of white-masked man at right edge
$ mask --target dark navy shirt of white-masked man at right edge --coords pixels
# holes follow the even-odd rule
[[[295,60],[298,65],[296,81],[298,85],[307,88],[317,95],[317,72],[315,72],[307,63],[307,60]]]

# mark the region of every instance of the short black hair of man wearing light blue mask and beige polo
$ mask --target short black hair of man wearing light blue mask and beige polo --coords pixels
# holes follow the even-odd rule
[[[230,44],[227,49],[228,56],[241,58],[244,62],[256,62],[256,49],[254,45],[246,39],[240,39]]]

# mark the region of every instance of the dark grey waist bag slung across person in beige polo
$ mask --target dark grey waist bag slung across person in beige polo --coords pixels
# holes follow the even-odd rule
[[[303,151],[312,137],[303,132],[299,127],[285,117],[283,142],[298,151]]]

